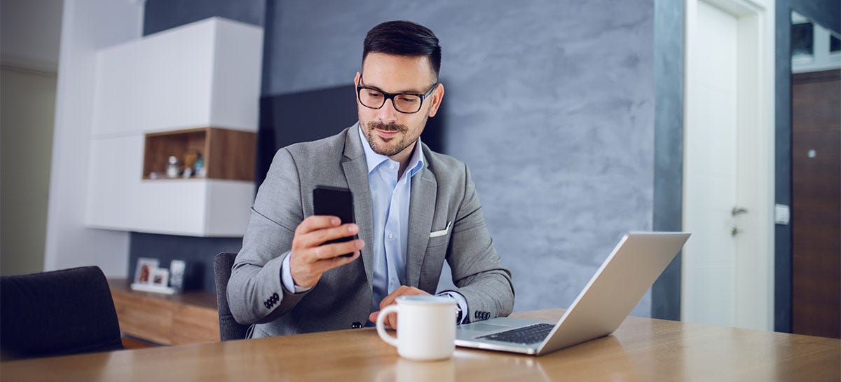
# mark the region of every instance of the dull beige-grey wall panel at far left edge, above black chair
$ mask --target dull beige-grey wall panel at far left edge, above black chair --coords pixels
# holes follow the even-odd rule
[[[0,274],[44,269],[56,74],[0,70]]]

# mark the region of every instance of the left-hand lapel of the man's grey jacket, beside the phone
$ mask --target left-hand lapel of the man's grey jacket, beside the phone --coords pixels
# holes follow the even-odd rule
[[[345,170],[347,186],[353,193],[354,215],[359,225],[359,238],[365,241],[362,248],[362,265],[368,276],[368,285],[373,285],[373,218],[371,217],[371,188],[368,185],[368,164],[365,151],[359,141],[359,124],[347,130],[345,151],[341,167]]]

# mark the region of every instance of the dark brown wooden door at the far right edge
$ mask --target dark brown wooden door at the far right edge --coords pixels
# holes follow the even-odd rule
[[[841,70],[791,76],[792,330],[841,337]]]

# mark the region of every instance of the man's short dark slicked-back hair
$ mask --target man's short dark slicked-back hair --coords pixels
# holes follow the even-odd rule
[[[438,71],[441,70],[441,45],[438,45],[438,38],[429,28],[411,21],[386,21],[368,30],[362,45],[363,63],[368,53],[427,56],[435,77],[438,77]]]

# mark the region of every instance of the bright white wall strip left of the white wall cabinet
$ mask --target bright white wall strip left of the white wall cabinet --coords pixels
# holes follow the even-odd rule
[[[127,232],[84,227],[96,52],[140,38],[142,2],[66,0],[61,25],[45,269],[98,265],[124,277]],[[114,161],[120,161],[115,157]]]

